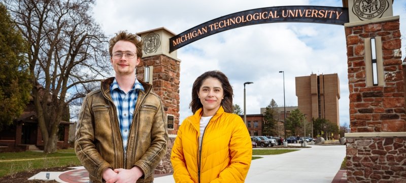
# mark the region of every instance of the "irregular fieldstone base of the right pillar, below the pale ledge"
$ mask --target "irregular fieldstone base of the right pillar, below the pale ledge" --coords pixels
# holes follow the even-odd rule
[[[348,182],[406,182],[406,137],[347,138]]]

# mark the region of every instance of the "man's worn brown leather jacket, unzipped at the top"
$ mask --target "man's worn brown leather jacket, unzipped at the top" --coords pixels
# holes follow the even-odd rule
[[[103,182],[102,173],[107,168],[133,166],[144,172],[137,182],[153,182],[154,169],[166,154],[168,139],[161,100],[150,92],[150,84],[140,81],[145,92],[140,90],[138,94],[125,155],[116,107],[110,95],[113,80],[101,81],[101,89],[83,100],[76,127],[76,155],[89,171],[92,182]]]

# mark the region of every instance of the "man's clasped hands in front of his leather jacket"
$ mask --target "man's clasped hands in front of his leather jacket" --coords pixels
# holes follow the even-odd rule
[[[106,183],[124,183],[124,182],[136,182],[141,176],[143,176],[144,172],[138,167],[134,166],[131,169],[123,169],[118,168],[114,169],[115,173],[118,173],[117,176],[106,180]]]

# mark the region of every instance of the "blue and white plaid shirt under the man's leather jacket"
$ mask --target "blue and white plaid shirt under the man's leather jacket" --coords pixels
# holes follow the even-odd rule
[[[132,86],[131,90],[127,94],[120,89],[116,78],[114,78],[113,83],[110,84],[110,94],[113,99],[114,105],[117,110],[117,118],[120,126],[121,137],[123,139],[124,150],[127,149],[127,139],[130,132],[133,112],[136,108],[138,91],[139,89],[144,90],[143,85],[137,80]]]

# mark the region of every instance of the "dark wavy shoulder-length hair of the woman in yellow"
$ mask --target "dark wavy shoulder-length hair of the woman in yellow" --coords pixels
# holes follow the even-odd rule
[[[224,93],[224,99],[221,100],[220,105],[223,106],[225,112],[232,113],[232,97],[234,96],[232,94],[232,87],[230,82],[228,82],[227,76],[220,71],[208,71],[196,78],[192,87],[192,101],[190,102],[189,108],[191,108],[192,112],[195,113],[199,108],[203,107],[197,93],[199,92],[203,81],[209,77],[216,78],[220,81]]]

